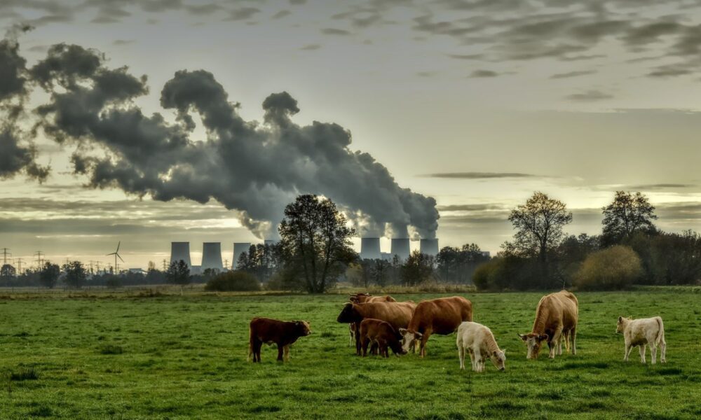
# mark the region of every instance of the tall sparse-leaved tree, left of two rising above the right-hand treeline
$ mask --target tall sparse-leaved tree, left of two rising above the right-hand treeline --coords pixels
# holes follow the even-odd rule
[[[509,221],[517,230],[507,251],[524,256],[537,256],[543,266],[547,253],[562,241],[564,225],[571,223],[572,214],[565,204],[536,191],[533,196],[511,211]]]

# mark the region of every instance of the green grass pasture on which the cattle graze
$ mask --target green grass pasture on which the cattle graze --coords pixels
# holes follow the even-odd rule
[[[698,419],[701,294],[578,293],[577,356],[526,360],[541,293],[466,295],[506,371],[428,356],[359,358],[336,323],[346,295],[32,296],[0,300],[0,419]],[[395,295],[418,300],[439,295]],[[665,320],[666,365],[622,362],[619,314]],[[311,321],[290,363],[247,363],[252,316]],[[648,353],[648,363],[650,356]],[[469,363],[468,363],[469,367]]]

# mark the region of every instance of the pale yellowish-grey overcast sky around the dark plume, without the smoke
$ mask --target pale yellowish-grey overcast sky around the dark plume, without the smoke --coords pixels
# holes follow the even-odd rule
[[[189,71],[190,81],[215,78],[228,93],[219,104],[238,103],[231,109],[261,139],[278,136],[288,117],[299,133],[318,128],[315,121],[340,125],[351,133],[351,144],[343,143],[342,132],[329,132],[336,127],[330,124],[314,131],[314,139],[340,141],[339,150],[348,150],[341,162],[355,162],[355,151],[369,153],[393,177],[390,190],[398,186],[397,194],[410,188],[412,200],[435,198],[441,246],[475,242],[496,253],[512,235],[509,210],[534,190],[567,204],[572,234],[599,233],[601,207],[619,189],[648,195],[660,228],[701,230],[696,1],[1,1],[0,26],[11,31],[18,24],[34,27],[18,35],[27,69],[55,43],[101,52],[101,68],[128,66],[135,78],[147,76],[148,93],[118,109],[160,113],[170,128],[184,124],[179,111],[190,112],[196,125],[188,134],[191,144],[206,143],[214,130],[192,111],[197,104],[180,106],[175,95],[171,106],[164,105],[164,85],[181,70]],[[39,84],[27,92],[28,116],[19,123],[25,134],[37,121],[32,112],[50,101]],[[290,98],[266,100],[278,92]],[[282,122],[275,120],[280,112]],[[139,197],[135,190],[125,193],[129,188],[116,179],[96,183],[94,172],[76,171],[72,155],[79,150],[87,159],[86,148],[95,145],[86,147],[84,138],[57,142],[47,127],[21,143],[33,142],[36,165],[50,166],[43,182],[29,166],[0,168],[0,247],[11,248],[25,264],[39,250],[55,261],[108,262],[104,254],[118,241],[129,267],[160,264],[170,241],[191,241],[193,264],[203,241],[221,241],[231,260],[233,242],[260,240],[243,227],[236,209],[261,211],[261,218],[278,214],[263,209],[271,197],[305,193],[300,186],[336,193],[332,182],[311,183],[322,172],[305,167],[290,171],[301,180],[291,181],[292,190],[247,190],[257,192],[249,193],[251,202],[259,201],[248,209],[240,204],[246,195],[222,193],[238,184],[220,180],[232,175],[214,165],[203,183],[221,181],[221,188],[205,188],[212,197],[206,204],[153,200],[153,188]],[[111,151],[104,156],[119,158],[108,142],[100,146]],[[306,160],[318,163],[316,151],[307,153]],[[289,162],[275,156],[276,167],[285,169]],[[245,176],[257,171],[251,165]],[[357,190],[373,180],[338,182],[340,189]],[[347,200],[351,211],[355,204],[372,211],[358,204],[362,197],[341,193],[339,200]],[[386,217],[378,222],[394,221]],[[382,246],[389,251],[389,240]]]

